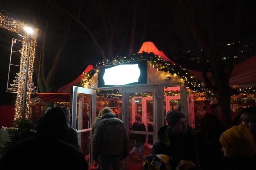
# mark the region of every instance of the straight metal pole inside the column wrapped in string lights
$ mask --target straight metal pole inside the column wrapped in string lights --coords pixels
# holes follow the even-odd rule
[[[29,49],[27,53],[26,77],[25,77],[23,100],[22,100],[22,119],[25,119],[25,112],[26,112],[27,79],[29,77],[29,57],[30,57],[30,40],[29,40]]]

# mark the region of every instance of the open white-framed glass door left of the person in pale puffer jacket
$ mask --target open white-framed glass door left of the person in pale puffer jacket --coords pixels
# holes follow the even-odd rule
[[[92,163],[91,125],[96,113],[96,94],[94,90],[83,87],[72,87],[71,94],[72,127],[77,130],[78,144],[89,165]]]

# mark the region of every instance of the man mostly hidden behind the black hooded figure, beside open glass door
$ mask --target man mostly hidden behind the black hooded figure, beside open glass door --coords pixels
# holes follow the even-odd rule
[[[76,129],[72,128],[70,126],[70,110],[69,108],[65,107],[65,106],[62,106],[61,107],[64,112],[66,113],[66,117],[67,117],[67,123],[68,123],[68,132],[67,132],[67,140],[66,142],[73,145],[74,147],[76,147],[77,149],[79,149],[79,145],[78,145],[78,138],[77,138],[77,132],[76,132]]]

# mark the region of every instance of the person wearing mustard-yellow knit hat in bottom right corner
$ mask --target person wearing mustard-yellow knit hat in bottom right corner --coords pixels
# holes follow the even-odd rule
[[[224,157],[223,169],[255,170],[256,146],[246,125],[234,126],[221,134],[219,139]]]

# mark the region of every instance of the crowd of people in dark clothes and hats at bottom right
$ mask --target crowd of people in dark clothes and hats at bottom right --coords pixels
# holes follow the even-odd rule
[[[220,106],[211,104],[206,110],[199,130],[190,128],[181,112],[167,112],[168,125],[158,131],[151,154],[168,155],[176,170],[255,170],[256,107],[241,109],[234,116],[234,126],[226,131]],[[144,165],[164,164],[159,159],[155,164],[148,161],[152,155],[145,157]]]

